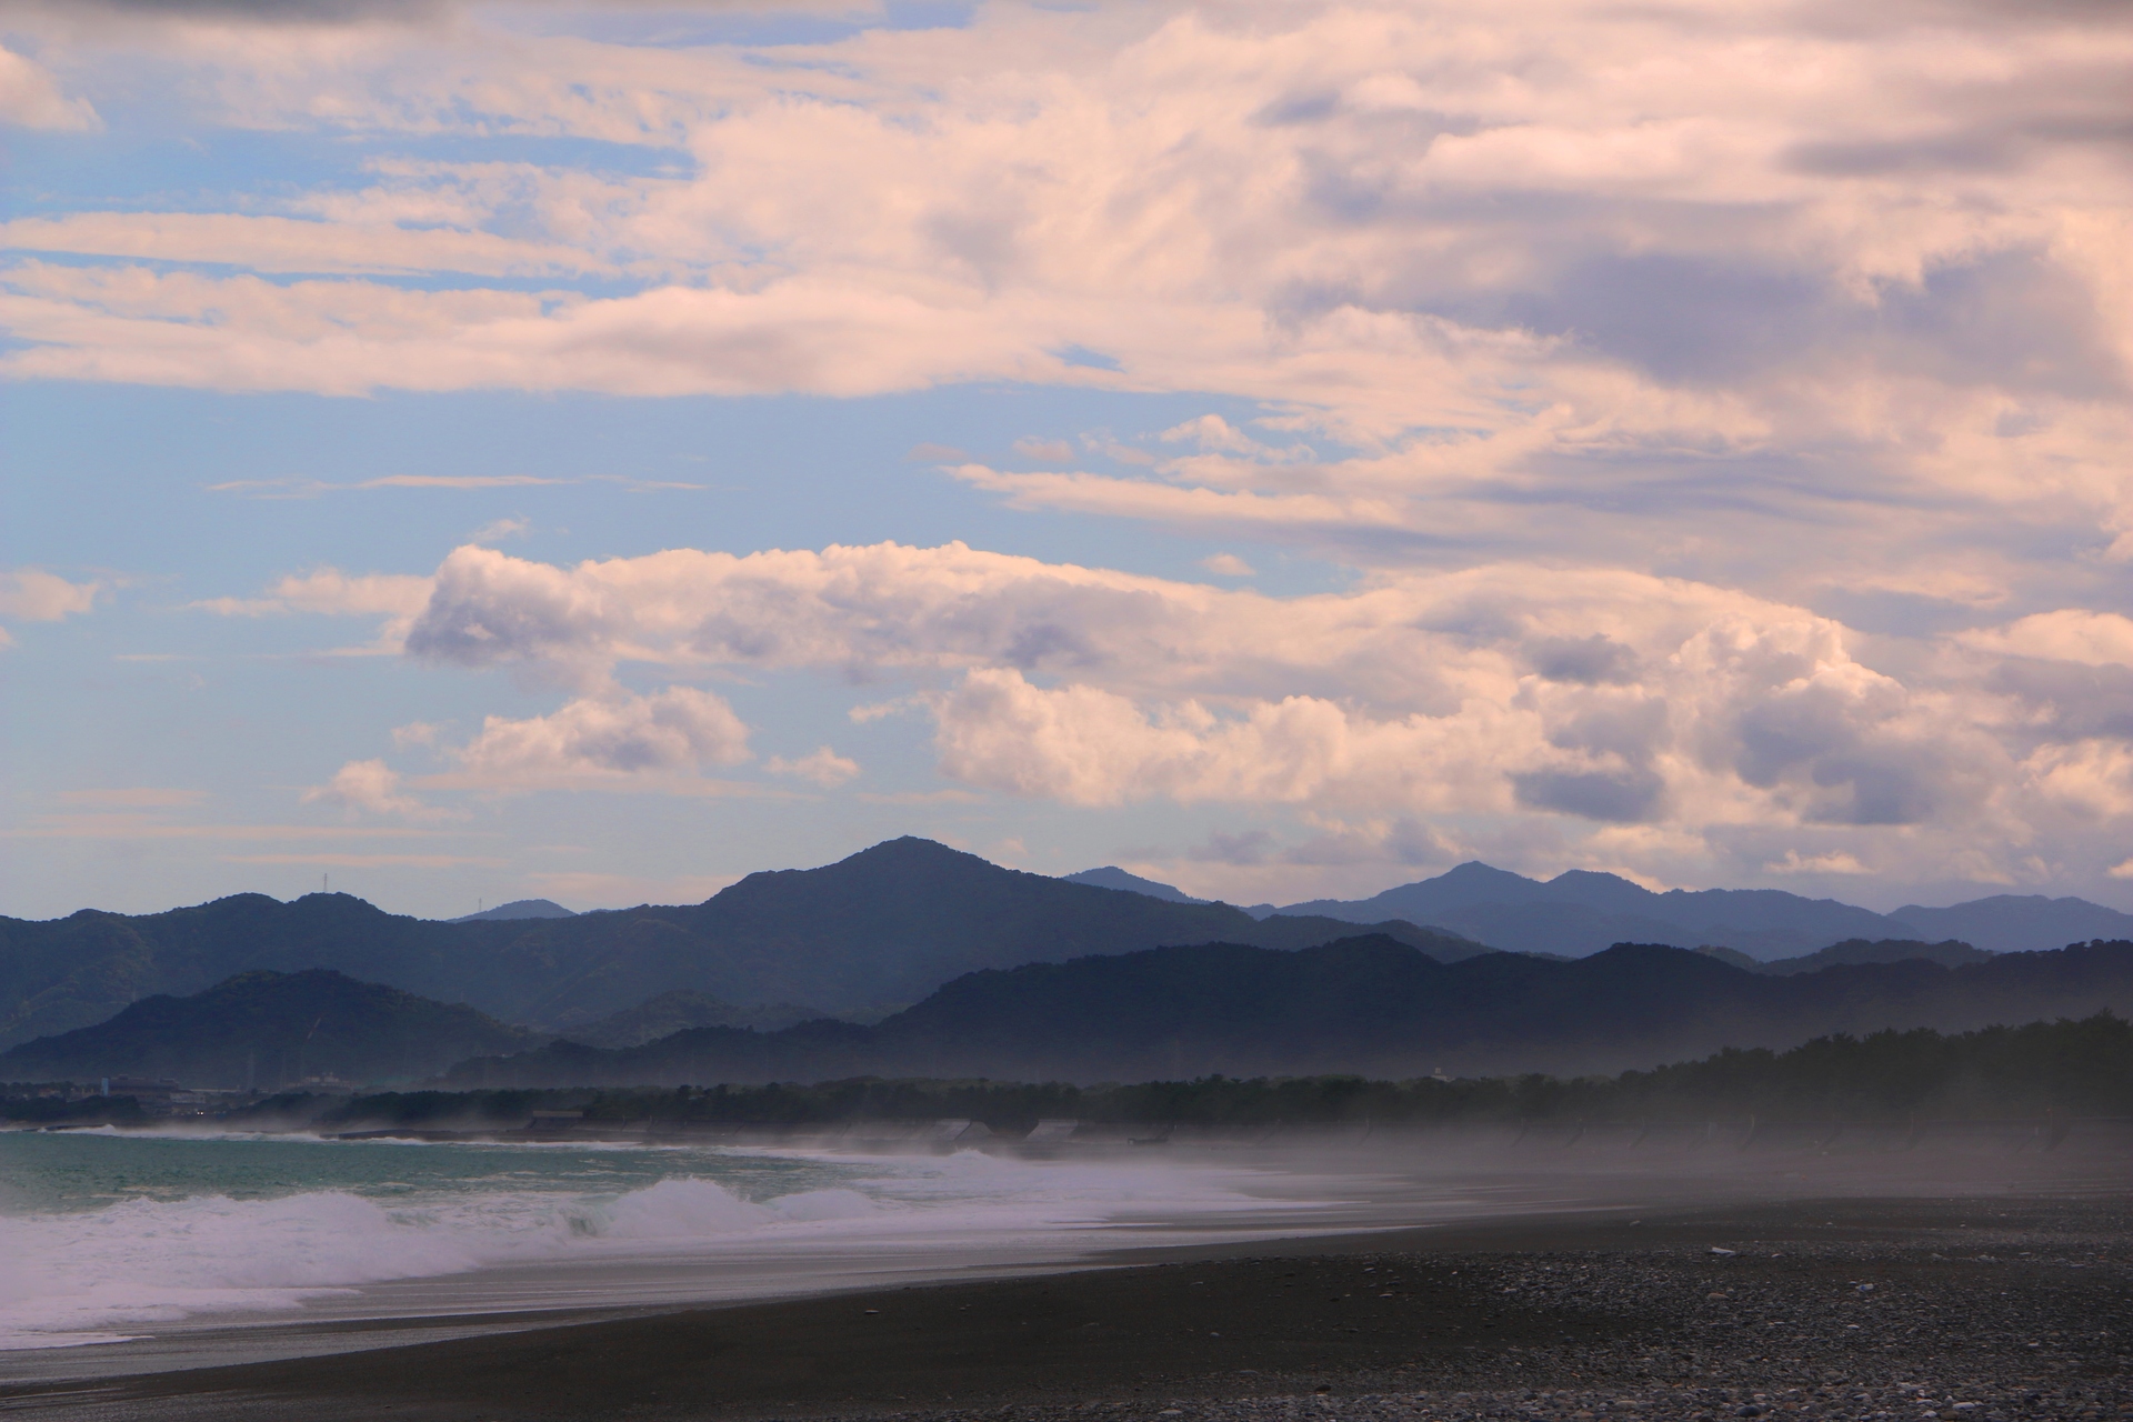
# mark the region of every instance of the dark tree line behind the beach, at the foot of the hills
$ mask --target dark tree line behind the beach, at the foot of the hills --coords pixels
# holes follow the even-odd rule
[[[597,1124],[840,1126],[968,1119],[1026,1134],[1045,1119],[1111,1126],[1453,1126],[1749,1117],[1790,1124],[2133,1117],[2133,1023],[2097,1013],[1941,1034],[1822,1036],[1790,1051],[1726,1049],[1615,1077],[1354,1074],[1199,1077],[1141,1083],[1015,1083],[855,1077],[821,1083],[683,1087],[416,1089],[337,1096],[284,1092],[230,1102],[220,1126],[525,1128],[535,1113]],[[132,1096],[77,1096],[62,1083],[0,1085],[0,1119],[87,1126],[151,1119]],[[557,1117],[561,1119],[561,1117]]]

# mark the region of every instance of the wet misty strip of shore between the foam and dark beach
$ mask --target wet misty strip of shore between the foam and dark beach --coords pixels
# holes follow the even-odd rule
[[[1962,1196],[2112,1187],[2129,1177],[2133,1130],[2080,1132],[2060,1149],[2024,1141],[1886,1149],[1841,1141],[1822,1149],[1636,1145],[1595,1136],[1508,1138],[1502,1132],[1378,1132],[1369,1141],[1312,1147],[1190,1145],[1130,1151],[1156,1175],[1126,1192],[1098,1190],[1073,1205],[1077,1164],[1024,1162],[1028,1181],[1062,1173],[1066,1202],[1028,1219],[956,1211],[851,1217],[785,1226],[770,1234],[712,1232],[661,1249],[602,1247],[497,1258],[474,1269],[331,1286],[303,1303],[260,1311],[194,1311],[162,1324],[115,1326],[119,1341],[53,1335],[53,1345],[0,1352],[0,1386],[100,1379],[147,1371],[243,1364],[378,1347],[420,1337],[493,1335],[565,1318],[644,1315],[687,1307],[825,1296],[862,1288],[1024,1277],[1092,1269],[1143,1245],[1246,1247],[1271,1239],[1322,1239],[1414,1226],[1461,1228],[1610,1209],[1681,1211],[1817,1198]],[[371,1149],[371,1147],[350,1147]],[[431,1147],[407,1147],[431,1149]],[[452,1149],[452,1147],[444,1147]],[[529,1145],[516,1149],[546,1151]],[[627,1147],[623,1147],[627,1149]],[[742,1151],[742,1158],[759,1151]],[[813,1151],[761,1151],[811,1158]],[[928,1156],[936,1156],[928,1151]],[[828,1156],[838,1164],[892,1156]],[[1175,1177],[1171,1175],[1175,1170]],[[1212,1175],[1209,1175],[1212,1173]],[[1214,1190],[1190,1209],[1180,1192]],[[1094,1209],[1096,1213],[1081,1213]],[[875,1222],[881,1226],[877,1228]],[[979,1228],[973,1228],[979,1226]]]

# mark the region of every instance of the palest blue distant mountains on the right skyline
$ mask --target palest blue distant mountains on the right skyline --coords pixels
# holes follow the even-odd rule
[[[1668,889],[1653,893],[1617,874],[1570,870],[1540,883],[1461,863],[1436,878],[1367,900],[1310,900],[1278,912],[1367,923],[1406,919],[1446,927],[1517,953],[1598,953],[1613,942],[1721,944],[1755,959],[1796,957],[1849,938],[1911,938],[2035,953],[2092,938],[2133,938],[2133,915],[2086,900],[1999,895],[1952,908],[1877,915],[1781,889]]]

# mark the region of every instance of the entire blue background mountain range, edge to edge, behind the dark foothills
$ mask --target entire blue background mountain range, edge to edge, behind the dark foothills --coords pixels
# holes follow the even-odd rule
[[[625,1047],[697,1025],[881,1021],[983,968],[1207,942],[1305,949],[1372,927],[1446,964],[1491,949],[1578,957],[1613,942],[1770,962],[1888,940],[2056,949],[2133,938],[2133,915],[2018,895],[1879,915],[1775,889],[1653,893],[1613,874],[1540,883],[1482,863],[1359,902],[1246,910],[1116,866],[1062,880],[902,838],[815,870],[751,874],[687,906],[572,915],[523,900],[442,923],[350,895],[245,893],[160,915],[0,919],[0,1049],[247,970],[328,968]]]

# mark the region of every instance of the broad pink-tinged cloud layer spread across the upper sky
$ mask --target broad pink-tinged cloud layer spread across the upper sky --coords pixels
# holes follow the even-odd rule
[[[1952,546],[2133,537],[2127,17],[1721,9],[1003,4],[687,49],[482,9],[171,11],[154,41],[68,32],[70,72],[117,90],[162,45],[252,132],[685,162],[384,156],[243,211],[23,217],[17,249],[68,260],[4,271],[6,362],[331,394],[1220,394],[1263,414],[1167,429],[1177,458],[966,478],[1365,565],[1606,546],[1773,597],[1873,567],[1996,605],[2007,580],[1950,582]]]

